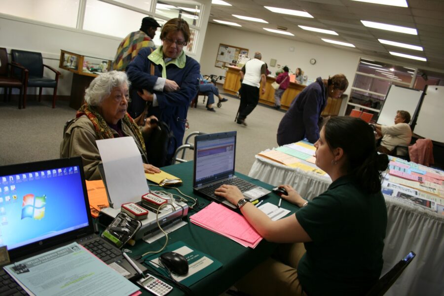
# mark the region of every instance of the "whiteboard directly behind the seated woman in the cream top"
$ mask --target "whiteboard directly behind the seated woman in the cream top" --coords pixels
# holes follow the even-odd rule
[[[377,124],[393,125],[396,111],[404,110],[415,116],[416,109],[421,100],[422,90],[402,87],[392,84],[379,112]],[[415,131],[416,132],[416,131]]]

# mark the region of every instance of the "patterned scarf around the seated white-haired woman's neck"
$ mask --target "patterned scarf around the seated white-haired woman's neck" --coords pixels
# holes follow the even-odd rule
[[[78,118],[82,115],[86,115],[89,120],[91,120],[92,124],[94,125],[96,135],[99,137],[99,139],[114,138],[110,126],[107,124],[103,116],[99,113],[99,111],[97,111],[95,107],[89,106],[85,102],[85,104],[83,104],[75,114],[75,118]],[[137,141],[139,141],[139,144],[142,147],[144,153],[146,154],[147,149],[145,148],[144,138],[142,137],[139,127],[134,122],[133,118],[128,115],[128,112],[125,114],[125,116],[123,116],[122,121],[131,129],[133,134],[136,136]]]

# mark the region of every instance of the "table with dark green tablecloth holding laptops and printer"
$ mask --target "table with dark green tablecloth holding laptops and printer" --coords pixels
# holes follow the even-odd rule
[[[162,168],[162,170],[182,179],[183,184],[178,186],[178,188],[182,192],[197,198],[199,203],[203,206],[206,206],[210,203],[210,201],[208,201],[207,199],[197,196],[193,193],[192,161],[164,167]],[[252,178],[249,178],[248,176],[239,173],[236,173],[236,175],[264,188],[272,188],[271,185],[265,184],[258,180],[254,180]],[[158,188],[160,187],[151,187],[152,190],[156,190]],[[178,193],[174,189],[165,190],[171,193]],[[268,194],[268,196],[265,197],[264,202],[271,202],[277,205],[279,202],[279,198],[274,193],[270,193]],[[284,200],[282,201],[282,207],[292,210],[292,212],[295,212],[298,209],[295,205],[292,205]],[[188,217],[193,215],[194,213],[194,211],[190,211],[188,213]],[[238,281],[243,275],[248,273],[261,261],[269,257],[277,247],[277,244],[275,243],[270,243],[262,240],[255,249],[245,248],[220,234],[197,226],[189,222],[189,220],[188,224],[173,231],[168,235],[168,237],[168,244],[172,244],[177,241],[183,241],[192,249],[208,254],[222,262],[222,268],[211,273],[210,275],[201,279],[190,287],[195,295],[205,296],[222,294],[236,281]],[[140,256],[147,251],[158,250],[163,246],[164,243],[165,238],[161,238],[151,244],[139,240],[136,242],[136,245],[131,248],[131,257],[136,258],[137,256]],[[148,291],[143,291],[143,294],[150,295]],[[174,290],[169,295],[183,295],[183,293],[178,288],[174,288]]]

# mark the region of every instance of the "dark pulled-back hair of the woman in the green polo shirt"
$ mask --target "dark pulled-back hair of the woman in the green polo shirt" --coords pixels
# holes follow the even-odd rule
[[[349,116],[332,117],[324,125],[324,135],[332,150],[344,150],[343,169],[348,175],[370,193],[381,190],[381,172],[387,169],[389,160],[386,154],[376,152],[373,129],[367,122]]]

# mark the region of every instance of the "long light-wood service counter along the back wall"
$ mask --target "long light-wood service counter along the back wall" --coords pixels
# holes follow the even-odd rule
[[[241,69],[237,67],[228,67],[225,74],[225,83],[223,83],[223,90],[226,93],[236,95],[241,86],[239,74],[240,70]],[[265,93],[263,95],[259,95],[259,103],[268,106],[274,105],[274,89],[271,87],[271,83],[273,83],[275,80],[275,77],[267,76]],[[303,84],[290,82],[289,87],[285,90],[284,94],[281,97],[281,108],[284,110],[288,110],[290,104],[304,88],[305,85]],[[328,116],[339,114],[341,101],[342,99],[332,99],[329,97],[327,100],[327,106],[325,107],[321,115]]]

